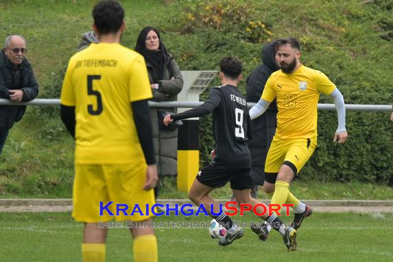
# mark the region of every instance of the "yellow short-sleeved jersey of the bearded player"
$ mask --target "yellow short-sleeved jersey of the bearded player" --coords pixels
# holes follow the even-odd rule
[[[274,72],[265,84],[261,99],[277,101],[278,139],[316,137],[319,95],[332,94],[336,85],[323,72],[301,65],[292,74]]]

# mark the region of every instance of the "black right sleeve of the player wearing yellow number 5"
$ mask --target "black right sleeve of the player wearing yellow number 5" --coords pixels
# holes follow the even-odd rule
[[[152,165],[156,163],[156,159],[154,157],[152,119],[148,100],[134,101],[131,103],[131,107],[146,163]]]

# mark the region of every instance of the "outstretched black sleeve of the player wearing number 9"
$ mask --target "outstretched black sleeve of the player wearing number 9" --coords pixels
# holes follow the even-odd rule
[[[212,88],[209,93],[208,101],[199,105],[196,108],[192,108],[180,114],[170,114],[173,121],[180,119],[189,119],[192,117],[203,117],[206,114],[210,114],[214,109],[218,108],[221,103],[221,91],[218,88]]]

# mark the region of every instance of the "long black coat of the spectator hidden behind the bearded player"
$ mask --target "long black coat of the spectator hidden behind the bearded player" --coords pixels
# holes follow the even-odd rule
[[[274,59],[274,45],[276,41],[267,43],[262,48],[262,64],[255,68],[247,79],[246,99],[248,102],[258,102],[261,99],[263,88],[270,74],[279,70]],[[270,103],[270,109],[254,119],[252,125],[252,139],[248,141],[251,152],[252,169],[251,175],[256,185],[262,185],[264,181],[265,159],[272,143],[272,138],[277,126],[276,102]]]

